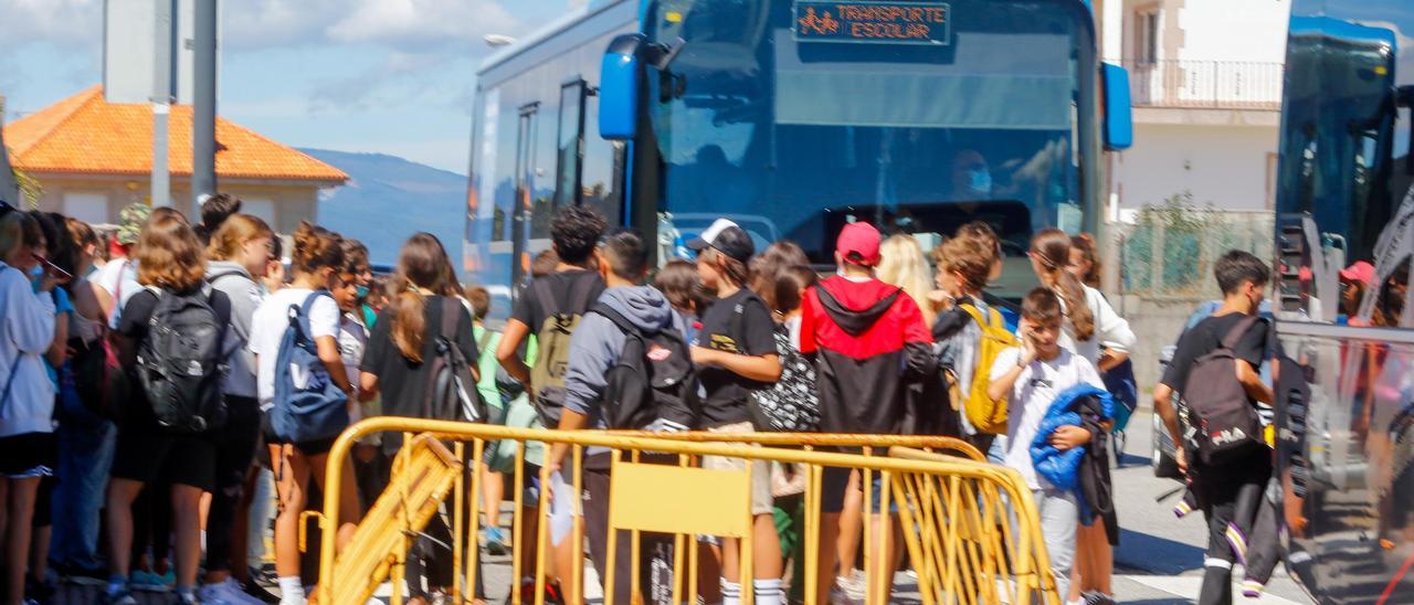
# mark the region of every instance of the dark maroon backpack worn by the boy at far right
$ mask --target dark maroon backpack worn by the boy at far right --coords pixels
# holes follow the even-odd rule
[[[1261,420],[1247,389],[1233,370],[1237,356],[1233,346],[1257,317],[1246,317],[1223,335],[1217,348],[1198,358],[1184,383],[1184,401],[1196,428],[1198,455],[1203,464],[1222,464],[1264,445]]]

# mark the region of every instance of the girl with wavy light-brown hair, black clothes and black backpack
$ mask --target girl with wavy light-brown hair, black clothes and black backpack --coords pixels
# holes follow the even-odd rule
[[[107,488],[109,572],[113,578],[107,587],[107,602],[133,602],[126,585],[132,563],[132,509],[143,489],[154,482],[171,485],[178,597],[182,602],[197,602],[201,498],[202,492],[215,488],[215,437],[221,427],[180,433],[158,424],[148,393],[133,368],[139,363],[137,352],[156,335],[150,327],[164,297],[204,298],[215,315],[215,325],[230,324],[230,300],[225,293],[204,290],[201,242],[180,215],[153,215],[137,239],[133,260],[137,263],[137,281],[144,290],[123,304],[117,325],[119,359],[133,373],[129,379],[133,399],[117,430]],[[222,348],[226,346],[223,341]]]

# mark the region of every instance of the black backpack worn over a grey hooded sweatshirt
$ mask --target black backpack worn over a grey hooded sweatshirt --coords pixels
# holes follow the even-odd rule
[[[590,312],[608,318],[625,336],[601,397],[608,428],[645,428],[659,420],[676,430],[697,428],[697,373],[683,335],[673,328],[645,332],[605,304]]]

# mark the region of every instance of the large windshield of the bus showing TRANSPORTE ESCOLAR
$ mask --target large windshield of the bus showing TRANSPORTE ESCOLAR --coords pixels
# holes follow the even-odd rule
[[[682,40],[649,93],[662,209],[684,233],[738,218],[819,264],[855,219],[986,221],[1011,256],[1036,229],[1077,232],[1087,18],[1055,0],[653,3],[648,37]]]

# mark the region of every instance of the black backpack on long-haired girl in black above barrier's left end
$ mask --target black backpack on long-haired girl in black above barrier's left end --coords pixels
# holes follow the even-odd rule
[[[461,318],[461,301],[443,297],[441,332],[434,342],[437,356],[431,363],[431,383],[427,384],[427,400],[423,416],[431,420],[458,420],[468,423],[486,421],[486,401],[481,400],[477,379],[471,376],[471,363],[457,346],[457,319]]]

